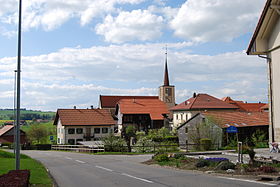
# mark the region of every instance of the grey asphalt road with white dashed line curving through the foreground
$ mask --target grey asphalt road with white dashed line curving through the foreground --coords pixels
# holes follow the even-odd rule
[[[140,162],[151,155],[88,155],[55,151],[22,151],[41,161],[59,187],[259,187],[273,185],[233,178],[221,178]]]

